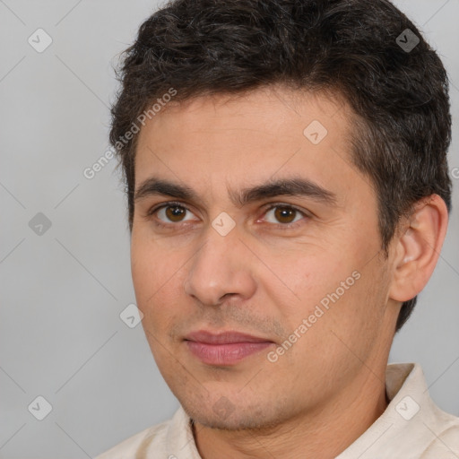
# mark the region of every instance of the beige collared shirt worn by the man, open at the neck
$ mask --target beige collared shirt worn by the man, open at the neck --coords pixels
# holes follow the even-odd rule
[[[422,369],[391,364],[385,412],[335,459],[459,459],[459,418],[429,397]],[[95,459],[202,459],[182,407],[171,420],[126,439]]]

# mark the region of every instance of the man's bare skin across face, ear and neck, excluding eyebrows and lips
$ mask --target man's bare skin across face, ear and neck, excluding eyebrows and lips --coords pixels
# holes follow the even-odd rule
[[[328,131],[318,144],[303,134],[313,120]],[[131,254],[145,335],[195,420],[204,459],[332,458],[385,411],[396,318],[437,263],[447,212],[436,195],[420,202],[385,256],[377,196],[351,163],[351,120],[351,109],[324,93],[271,87],[171,102],[139,134],[135,189],[154,176],[198,196],[136,199]],[[241,206],[230,198],[229,190],[292,177],[324,187],[335,202],[277,195]],[[181,216],[171,208],[148,215],[170,201],[185,207]],[[285,217],[268,204],[299,212]],[[226,236],[212,228],[221,212],[235,222]],[[359,280],[270,361],[268,352],[356,271]],[[202,329],[273,344],[230,367],[211,366],[184,342]]]

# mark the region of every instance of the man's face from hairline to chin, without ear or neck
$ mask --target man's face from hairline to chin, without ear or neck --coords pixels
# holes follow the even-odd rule
[[[135,295],[160,372],[198,422],[273,426],[382,384],[391,270],[351,128],[346,105],[285,89],[169,104],[142,128],[135,189],[154,178],[193,196],[152,181],[137,196]],[[303,193],[284,193],[292,179]]]

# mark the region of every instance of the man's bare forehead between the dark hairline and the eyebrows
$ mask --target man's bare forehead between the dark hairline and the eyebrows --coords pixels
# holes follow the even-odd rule
[[[299,174],[346,186],[359,175],[351,119],[342,100],[318,91],[264,88],[172,102],[141,129],[135,187],[153,173],[207,194]]]

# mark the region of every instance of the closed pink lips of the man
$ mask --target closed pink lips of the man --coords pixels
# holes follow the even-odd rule
[[[189,333],[186,345],[195,357],[208,365],[228,366],[273,345],[271,340],[239,332]]]

